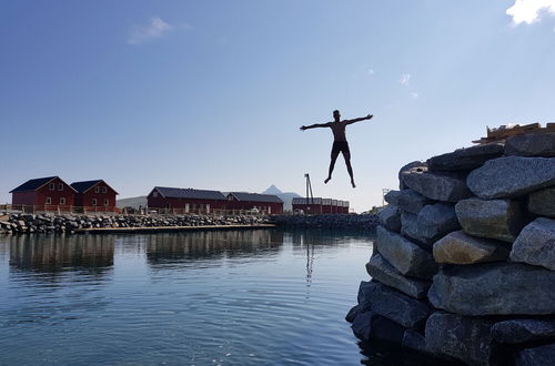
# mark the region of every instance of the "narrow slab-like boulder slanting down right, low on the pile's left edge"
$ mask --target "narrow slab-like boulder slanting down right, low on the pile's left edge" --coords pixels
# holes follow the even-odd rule
[[[425,298],[432,284],[427,281],[403,276],[380,254],[370,258],[366,263],[366,272],[372,278],[415,298]]]

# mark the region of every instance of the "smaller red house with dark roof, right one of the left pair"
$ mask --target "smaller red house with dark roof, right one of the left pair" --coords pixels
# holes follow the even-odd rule
[[[115,210],[115,196],[119,194],[102,180],[71,183],[75,190],[75,206],[102,207],[104,211]]]

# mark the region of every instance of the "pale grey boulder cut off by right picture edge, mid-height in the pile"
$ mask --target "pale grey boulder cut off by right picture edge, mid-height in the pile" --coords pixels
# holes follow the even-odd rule
[[[538,217],[526,225],[513,243],[511,260],[555,271],[555,220]]]

